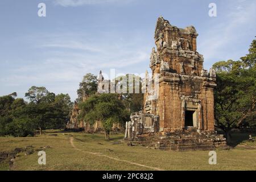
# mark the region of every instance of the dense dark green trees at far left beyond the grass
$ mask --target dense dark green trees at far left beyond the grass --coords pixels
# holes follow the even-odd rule
[[[38,130],[64,129],[73,103],[68,94],[48,92],[44,87],[32,86],[25,97],[17,94],[0,97],[0,135],[34,136]]]

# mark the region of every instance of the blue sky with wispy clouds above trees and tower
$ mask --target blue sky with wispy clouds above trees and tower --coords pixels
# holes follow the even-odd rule
[[[38,4],[46,4],[46,17]],[[208,15],[216,3],[217,17]],[[0,96],[31,86],[68,93],[72,100],[82,76],[144,73],[154,47],[156,19],[195,26],[204,68],[238,60],[256,35],[254,0],[1,0]]]

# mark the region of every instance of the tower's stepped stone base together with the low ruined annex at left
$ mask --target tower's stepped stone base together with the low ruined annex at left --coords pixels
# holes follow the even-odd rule
[[[159,131],[159,117],[141,112],[131,114],[131,121],[126,122],[125,142],[174,151],[228,149],[226,139],[217,131],[200,131],[195,127]]]

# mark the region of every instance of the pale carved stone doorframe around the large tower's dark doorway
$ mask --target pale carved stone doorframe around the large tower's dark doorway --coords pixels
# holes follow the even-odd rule
[[[185,111],[195,111],[193,114],[193,127],[200,132],[203,128],[201,101],[192,96],[181,96],[181,127],[185,129]]]

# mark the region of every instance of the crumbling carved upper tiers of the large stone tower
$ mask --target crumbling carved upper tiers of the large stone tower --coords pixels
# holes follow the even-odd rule
[[[196,51],[197,36],[195,27],[178,28],[160,16],[155,28],[156,49],[151,52],[152,72],[200,76],[204,58]]]

